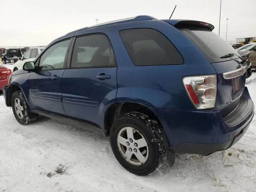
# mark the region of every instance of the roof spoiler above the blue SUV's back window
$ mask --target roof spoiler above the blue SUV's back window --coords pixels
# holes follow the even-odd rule
[[[209,29],[211,31],[214,29],[214,26],[212,24],[206,23],[206,22],[202,22],[202,21],[195,21],[195,20],[168,20],[168,19],[165,19],[163,21],[172,24],[176,28],[186,28],[188,26],[201,26],[201,27],[205,27],[205,28],[207,28],[207,29]]]

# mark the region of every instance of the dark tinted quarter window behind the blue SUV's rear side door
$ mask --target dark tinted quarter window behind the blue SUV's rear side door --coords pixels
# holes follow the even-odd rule
[[[120,36],[136,66],[176,65],[184,62],[174,45],[154,29],[120,31]]]

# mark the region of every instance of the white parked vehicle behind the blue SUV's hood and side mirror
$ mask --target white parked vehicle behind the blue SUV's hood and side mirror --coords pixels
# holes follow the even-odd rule
[[[28,49],[22,57],[18,58],[19,60],[13,65],[12,71],[22,69],[25,62],[33,61],[44,48],[44,46],[40,46]]]

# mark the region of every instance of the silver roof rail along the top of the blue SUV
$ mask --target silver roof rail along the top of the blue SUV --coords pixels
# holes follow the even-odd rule
[[[113,21],[109,21],[109,22],[104,22],[104,23],[92,25],[92,26],[89,26],[89,27],[84,27],[84,28],[69,32],[66,35],[74,33],[74,32],[78,32],[78,31],[90,29],[90,28],[100,27],[100,26],[106,26],[106,25],[118,24],[118,23],[125,23],[125,22],[131,22],[131,21],[144,21],[144,20],[157,20],[157,18],[154,18],[152,16],[148,16],[148,15],[139,15],[139,16],[136,16],[136,17],[113,20]]]

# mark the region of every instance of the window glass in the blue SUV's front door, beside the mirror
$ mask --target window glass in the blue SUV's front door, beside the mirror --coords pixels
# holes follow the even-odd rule
[[[70,40],[58,42],[42,54],[39,62],[40,70],[64,68],[64,60]]]

